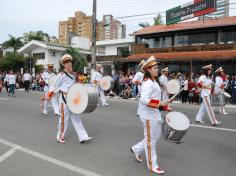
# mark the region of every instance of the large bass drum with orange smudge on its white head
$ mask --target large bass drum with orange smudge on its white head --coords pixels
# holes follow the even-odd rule
[[[66,100],[69,110],[75,114],[93,112],[98,104],[96,89],[91,84],[72,85],[67,92]]]

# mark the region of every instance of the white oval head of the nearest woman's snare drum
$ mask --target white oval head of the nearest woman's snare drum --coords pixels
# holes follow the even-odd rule
[[[180,112],[168,113],[165,120],[171,128],[178,131],[185,131],[190,127],[188,117]]]

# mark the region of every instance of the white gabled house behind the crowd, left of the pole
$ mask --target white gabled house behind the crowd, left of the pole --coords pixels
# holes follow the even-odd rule
[[[21,47],[18,52],[32,56],[36,60],[36,65],[43,65],[44,68],[47,68],[47,64],[53,64],[56,71],[59,71],[59,60],[68,48],[70,46],[32,40]],[[84,58],[91,54],[90,50],[77,49]]]

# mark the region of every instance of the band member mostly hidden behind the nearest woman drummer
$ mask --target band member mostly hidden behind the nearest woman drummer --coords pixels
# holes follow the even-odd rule
[[[141,85],[142,85],[142,82],[143,82],[143,76],[144,76],[144,74],[143,74],[143,72],[142,72],[142,70],[141,70],[141,67],[142,67],[142,65],[145,63],[145,60],[142,60],[140,63],[139,63],[139,65],[138,65],[138,67],[140,68],[140,70],[135,74],[135,76],[134,76],[134,78],[133,78],[133,80],[132,80],[132,82],[136,85],[136,86],[138,86],[138,94],[140,95],[140,93],[141,93]],[[137,116],[139,116],[139,108],[140,107],[140,103],[138,104],[138,109],[137,109]]]

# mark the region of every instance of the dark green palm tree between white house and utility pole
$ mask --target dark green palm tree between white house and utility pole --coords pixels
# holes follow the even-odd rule
[[[68,48],[65,54],[72,56],[73,71],[83,72],[84,67],[88,64],[87,60],[75,48]]]

